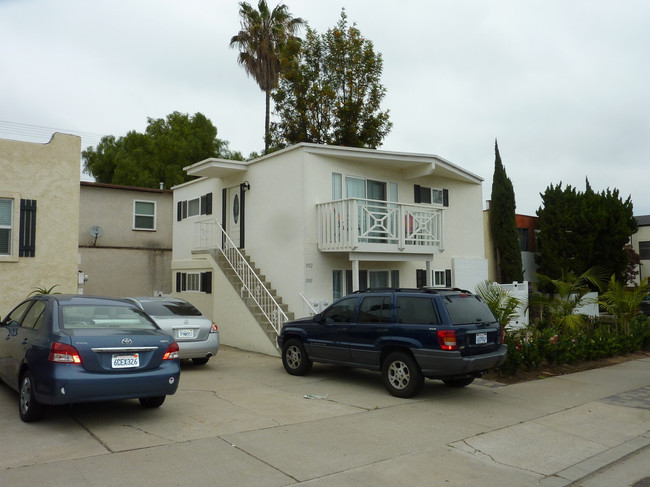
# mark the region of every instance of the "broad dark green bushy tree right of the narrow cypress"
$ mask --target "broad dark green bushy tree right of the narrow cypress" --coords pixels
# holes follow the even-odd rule
[[[617,280],[625,278],[630,264],[625,245],[637,230],[629,197],[623,201],[616,189],[596,193],[588,181],[584,192],[560,183],[541,197],[536,256],[541,274],[558,278],[600,266]]]

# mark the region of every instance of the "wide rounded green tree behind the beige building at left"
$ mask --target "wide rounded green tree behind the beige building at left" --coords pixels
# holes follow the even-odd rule
[[[97,148],[82,152],[85,171],[99,183],[143,188],[165,188],[191,177],[185,166],[207,159],[242,160],[228,142],[217,138],[217,129],[203,114],[173,112],[167,118],[148,119],[145,133],[128,132],[124,137],[102,137]]]

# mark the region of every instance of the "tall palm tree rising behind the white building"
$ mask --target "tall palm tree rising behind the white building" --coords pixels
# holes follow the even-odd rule
[[[252,76],[266,94],[266,117],[264,119],[264,153],[269,150],[269,114],[271,90],[280,76],[280,50],[304,24],[301,18],[293,18],[286,5],[279,4],[272,11],[266,0],[259,0],[257,10],[247,2],[240,2],[241,30],[230,39],[230,47],[239,49],[237,62]]]

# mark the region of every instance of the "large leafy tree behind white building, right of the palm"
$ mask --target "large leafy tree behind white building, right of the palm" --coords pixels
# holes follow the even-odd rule
[[[390,132],[381,54],[345,10],[336,26],[319,35],[308,28],[304,42],[289,43],[273,93],[274,144],[299,142],[377,148]]]

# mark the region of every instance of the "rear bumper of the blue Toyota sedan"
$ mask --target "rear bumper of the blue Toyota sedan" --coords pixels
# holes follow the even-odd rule
[[[138,372],[89,372],[72,364],[52,364],[39,372],[34,374],[36,399],[50,405],[168,396],[178,389],[181,375],[178,360]]]

